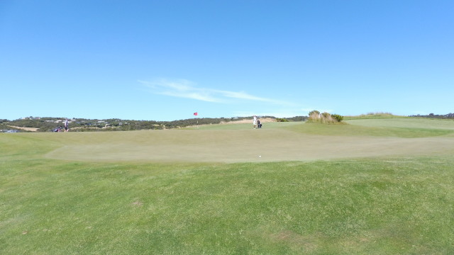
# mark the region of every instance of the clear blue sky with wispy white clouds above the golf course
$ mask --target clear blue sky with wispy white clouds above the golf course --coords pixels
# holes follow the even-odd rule
[[[0,118],[454,112],[454,1],[0,1]]]

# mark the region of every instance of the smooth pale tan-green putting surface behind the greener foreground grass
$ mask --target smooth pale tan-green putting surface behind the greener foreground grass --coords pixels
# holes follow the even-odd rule
[[[60,142],[60,147],[46,154],[50,159],[90,162],[232,163],[453,154],[453,121],[418,120],[418,127],[422,128],[413,125],[411,128],[414,130],[404,132],[410,136],[413,132],[416,137],[387,137],[389,130],[408,123],[406,119],[393,121],[389,124],[384,120],[372,120],[372,124],[367,124],[367,120],[356,120],[350,121],[351,125],[310,127],[304,123],[267,123],[268,128],[260,130],[252,129],[249,124],[231,124],[209,125],[193,130],[23,135]],[[375,136],[358,135],[360,126],[356,123],[366,126],[378,123],[378,127],[390,129],[367,132],[367,128],[362,128],[367,134]],[[437,133],[438,130],[444,132]]]

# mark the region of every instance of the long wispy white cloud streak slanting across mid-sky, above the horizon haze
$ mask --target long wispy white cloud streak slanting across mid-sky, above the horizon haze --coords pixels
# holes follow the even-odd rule
[[[192,98],[199,101],[229,103],[232,101],[232,99],[238,99],[245,101],[262,101],[275,104],[289,104],[289,102],[285,101],[253,96],[244,91],[223,91],[216,89],[199,88],[196,86],[196,84],[194,84],[194,82],[185,79],[179,79],[176,81],[159,79],[154,81],[139,82],[144,86],[152,89],[152,92],[154,94],[175,96],[180,98]]]

